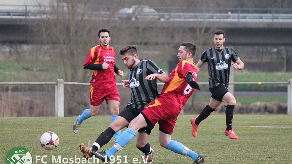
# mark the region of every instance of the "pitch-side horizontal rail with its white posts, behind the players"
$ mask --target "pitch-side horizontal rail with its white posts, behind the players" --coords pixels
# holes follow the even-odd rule
[[[0,82],[0,85],[55,85],[55,116],[64,117],[64,84],[66,85],[90,85],[89,83],[64,82],[63,79],[57,79],[56,82]],[[164,85],[164,83],[157,83]],[[209,84],[208,82],[199,82],[198,84]],[[292,79],[287,82],[230,82],[229,84],[287,84],[287,114],[292,114]],[[116,83],[123,85],[123,83]]]

